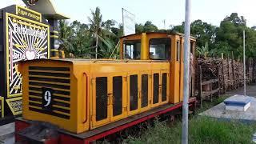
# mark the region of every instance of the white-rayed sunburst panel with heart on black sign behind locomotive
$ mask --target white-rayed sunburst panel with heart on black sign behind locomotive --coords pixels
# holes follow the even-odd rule
[[[7,15],[7,82],[9,96],[22,94],[22,75],[18,62],[48,58],[49,26],[38,22],[27,22],[14,14]],[[8,97],[9,97],[8,96]]]

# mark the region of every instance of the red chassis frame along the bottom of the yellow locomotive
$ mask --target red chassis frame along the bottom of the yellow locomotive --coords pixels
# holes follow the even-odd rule
[[[190,106],[195,106],[196,104],[196,98],[190,98],[189,100]],[[102,133],[99,134],[94,134],[90,137],[87,138],[81,138],[79,136],[76,137],[78,134],[70,134],[69,132],[59,132],[58,138],[51,138],[47,139],[45,144],[56,144],[56,143],[61,143],[61,144],[70,144],[70,143],[76,143],[76,144],[87,144],[90,142],[94,142],[100,138],[104,138],[110,134],[117,133],[118,131],[125,130],[126,128],[130,126],[137,125],[138,123],[145,122],[148,119],[155,118],[158,115],[161,114],[166,114],[170,111],[177,110],[178,108],[182,107],[182,102],[179,102],[178,104],[175,104],[174,106],[170,106],[164,110],[159,110],[153,114],[146,115],[145,117],[138,118],[132,122],[127,122],[126,124],[123,124],[121,126],[116,126],[110,130],[103,131]],[[30,122],[23,120],[22,118],[17,118],[15,121],[15,138],[16,142],[22,141],[22,137],[18,135],[18,131],[26,129],[26,127],[30,126]],[[85,132],[86,133],[86,132]]]

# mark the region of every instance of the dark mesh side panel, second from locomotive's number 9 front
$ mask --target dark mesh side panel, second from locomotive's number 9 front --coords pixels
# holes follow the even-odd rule
[[[113,78],[113,114],[122,114],[122,76]]]

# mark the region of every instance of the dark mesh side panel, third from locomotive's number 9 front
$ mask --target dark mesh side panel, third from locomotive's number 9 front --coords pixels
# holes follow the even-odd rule
[[[130,111],[138,109],[138,75],[130,75]]]

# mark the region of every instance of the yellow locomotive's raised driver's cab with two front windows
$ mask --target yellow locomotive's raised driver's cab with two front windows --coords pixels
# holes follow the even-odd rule
[[[120,58],[170,62],[170,103],[182,102],[184,34],[142,33],[121,38]],[[195,38],[190,37],[190,97],[194,96]]]

